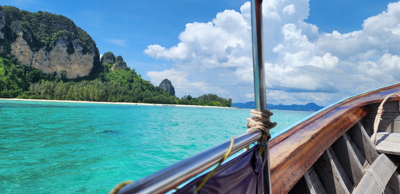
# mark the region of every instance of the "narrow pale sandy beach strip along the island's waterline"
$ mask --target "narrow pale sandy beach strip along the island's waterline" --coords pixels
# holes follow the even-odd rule
[[[145,105],[145,106],[164,106],[163,104],[148,104],[148,103],[135,103],[135,102],[95,102],[95,101],[76,101],[76,100],[43,100],[43,99],[22,99],[22,98],[0,98],[0,100],[17,100],[17,101],[36,101],[36,102],[74,102],[74,103],[93,103],[93,104],[124,104],[124,105]],[[171,104],[168,104],[171,105]],[[172,104],[181,107],[201,107],[201,108],[232,108],[222,106],[199,106],[199,105],[184,105]],[[236,108],[234,108],[236,109]]]

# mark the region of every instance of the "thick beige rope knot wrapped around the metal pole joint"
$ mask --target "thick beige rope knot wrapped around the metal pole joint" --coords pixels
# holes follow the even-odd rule
[[[262,130],[265,132],[268,139],[271,138],[270,129],[276,126],[276,122],[270,121],[272,112],[269,110],[250,110],[250,114],[253,118],[247,118],[247,133],[251,134],[258,130]]]

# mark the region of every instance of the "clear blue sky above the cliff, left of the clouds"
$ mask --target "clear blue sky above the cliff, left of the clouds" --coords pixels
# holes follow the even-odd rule
[[[2,0],[1,5],[31,12],[47,11],[71,18],[96,41],[100,54],[121,55],[143,78],[147,71],[162,70],[171,62],[143,53],[150,44],[173,46],[190,22],[208,22],[217,12],[238,9],[243,0],[135,0],[42,1]]]

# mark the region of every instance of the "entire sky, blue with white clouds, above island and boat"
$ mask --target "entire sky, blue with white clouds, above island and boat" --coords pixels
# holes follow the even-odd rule
[[[364,20],[376,16],[378,20],[387,21],[396,15],[397,4],[393,4],[392,12],[380,14],[387,9],[389,2],[395,1],[264,1],[264,12],[268,12],[264,29],[270,38],[266,38],[264,43],[266,62],[272,71],[267,77],[270,102],[317,102],[326,106],[346,96],[398,81],[396,75],[388,80],[379,80],[369,72],[357,72],[360,64],[379,68],[384,66],[385,60],[396,60],[400,54],[392,45],[396,43],[396,37],[392,39],[394,41],[387,41],[388,45],[364,42],[367,35],[371,35],[369,32],[376,31],[368,25],[368,29],[364,29]],[[251,49],[246,1],[2,0],[1,5],[17,6],[32,12],[42,10],[71,18],[92,36],[100,54],[112,51],[122,55],[128,66],[154,84],[169,78],[179,90],[178,97],[210,92],[233,98],[234,102],[253,98],[252,75],[248,68],[251,67]],[[390,28],[374,26],[396,34],[397,28],[393,26],[398,25],[398,21],[393,22],[387,24]],[[188,23],[193,25],[185,26]],[[386,25],[385,22],[380,24]],[[377,40],[382,38],[376,36]],[[340,42],[354,37],[358,38],[354,41],[360,44],[352,44],[351,48],[345,48]],[[296,44],[294,39],[304,44]],[[219,45],[222,48],[216,48]],[[308,46],[305,48],[304,45]],[[237,56],[232,58],[234,55]],[[337,78],[344,72],[347,77]],[[328,78],[325,74],[338,76]],[[360,84],[358,80],[366,81]]]

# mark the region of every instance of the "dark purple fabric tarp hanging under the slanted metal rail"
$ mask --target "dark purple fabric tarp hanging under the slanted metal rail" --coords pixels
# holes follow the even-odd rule
[[[258,155],[259,146],[240,154],[221,165],[198,191],[198,194],[263,194],[263,165]],[[175,194],[193,194],[204,174],[186,184]]]

